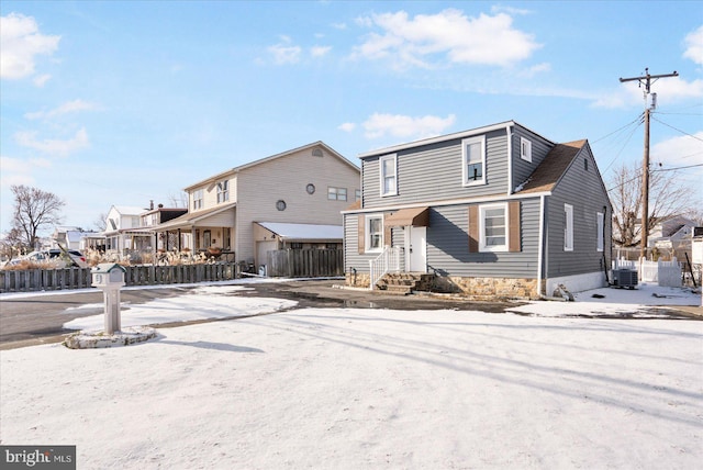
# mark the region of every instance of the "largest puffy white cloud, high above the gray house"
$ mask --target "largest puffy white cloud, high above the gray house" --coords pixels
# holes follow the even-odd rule
[[[369,34],[353,57],[389,59],[394,68],[432,67],[429,60],[436,55],[455,64],[511,66],[540,47],[512,22],[505,13],[469,18],[455,9],[412,19],[404,11],[373,14],[358,19],[357,24],[382,31]]]

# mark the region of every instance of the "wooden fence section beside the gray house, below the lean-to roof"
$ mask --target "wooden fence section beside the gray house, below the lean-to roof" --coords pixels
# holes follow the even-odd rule
[[[321,278],[344,276],[341,249],[278,249],[266,254],[266,276]]]

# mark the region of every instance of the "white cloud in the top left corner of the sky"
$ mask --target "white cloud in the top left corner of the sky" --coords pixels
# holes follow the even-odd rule
[[[16,80],[33,75],[34,57],[53,54],[59,40],[60,36],[41,34],[32,16],[19,13],[0,16],[0,78]],[[46,81],[38,80],[42,85],[42,80]]]

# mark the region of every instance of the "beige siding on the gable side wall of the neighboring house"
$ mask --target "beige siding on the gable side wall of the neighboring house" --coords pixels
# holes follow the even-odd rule
[[[308,183],[315,186],[309,194]],[[327,187],[347,189],[347,201],[327,199]],[[236,250],[237,259],[255,257],[253,222],[342,225],[341,212],[354,202],[359,189],[359,171],[336,156],[323,152],[313,156],[309,148],[264,161],[237,176]],[[286,201],[286,210],[276,202]]]

